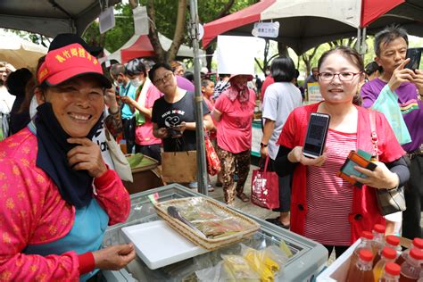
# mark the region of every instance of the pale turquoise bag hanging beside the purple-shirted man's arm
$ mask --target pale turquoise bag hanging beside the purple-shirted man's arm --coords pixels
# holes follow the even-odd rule
[[[398,95],[392,92],[388,85],[382,88],[371,108],[385,115],[386,120],[388,120],[394,130],[398,143],[404,145],[411,142],[410,132],[405,125],[402,112],[398,106]]]

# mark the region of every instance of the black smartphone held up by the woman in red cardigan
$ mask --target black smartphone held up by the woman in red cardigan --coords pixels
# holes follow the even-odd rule
[[[307,135],[303,145],[303,155],[315,159],[322,155],[328,136],[330,115],[311,112]]]

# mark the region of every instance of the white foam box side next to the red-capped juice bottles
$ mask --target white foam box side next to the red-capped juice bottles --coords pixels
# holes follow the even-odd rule
[[[345,281],[348,269],[350,268],[350,261],[352,253],[359,245],[361,239],[355,241],[336,261],[332,262],[326,270],[323,270],[316,278],[316,282],[342,282]]]

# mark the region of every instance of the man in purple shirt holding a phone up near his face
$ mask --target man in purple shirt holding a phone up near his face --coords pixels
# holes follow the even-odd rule
[[[405,29],[390,26],[375,36],[375,61],[382,73],[361,88],[363,106],[369,108],[386,85],[398,95],[398,107],[410,132],[411,142],[402,145],[410,160],[410,180],[405,185],[407,209],[402,211],[402,236],[421,237],[423,203],[423,71],[405,68],[408,36]]]

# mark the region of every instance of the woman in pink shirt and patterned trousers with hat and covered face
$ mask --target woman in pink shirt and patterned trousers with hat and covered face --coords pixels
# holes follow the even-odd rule
[[[230,86],[214,104],[214,118],[218,121],[218,155],[220,158],[225,202],[234,203],[235,197],[248,202],[244,194],[245,180],[250,171],[251,142],[255,94],[247,87],[252,75],[236,74]],[[237,173],[235,186],[234,175]]]

